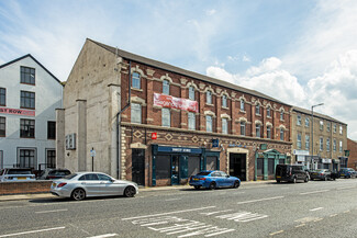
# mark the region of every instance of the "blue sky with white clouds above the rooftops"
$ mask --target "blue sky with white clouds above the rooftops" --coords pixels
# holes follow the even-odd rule
[[[86,38],[348,124],[357,140],[355,0],[0,0],[0,65],[31,54],[66,81]]]

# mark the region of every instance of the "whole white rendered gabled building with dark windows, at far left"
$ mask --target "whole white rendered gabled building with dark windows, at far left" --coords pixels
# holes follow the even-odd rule
[[[56,166],[63,84],[33,56],[0,66],[0,169]]]

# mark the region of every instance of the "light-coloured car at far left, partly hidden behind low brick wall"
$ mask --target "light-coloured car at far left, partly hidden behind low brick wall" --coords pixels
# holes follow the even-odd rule
[[[35,180],[35,174],[33,174],[32,169],[10,168],[0,170],[0,182],[33,180]]]

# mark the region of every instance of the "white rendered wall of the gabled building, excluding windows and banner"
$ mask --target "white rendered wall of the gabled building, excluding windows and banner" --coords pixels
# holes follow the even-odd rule
[[[35,86],[20,83],[20,66],[35,68]],[[45,163],[46,149],[56,148],[55,139],[47,139],[47,122],[55,122],[55,109],[63,106],[63,86],[29,56],[0,68],[0,88],[7,89],[7,105],[0,107],[8,109],[20,109],[20,91],[35,92],[35,116],[0,113],[7,117],[7,136],[0,137],[3,167],[16,163],[18,148],[23,147],[36,148],[37,165]],[[20,138],[20,118],[35,120],[34,139]]]

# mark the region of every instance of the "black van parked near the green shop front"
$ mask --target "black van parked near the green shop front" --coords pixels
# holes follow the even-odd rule
[[[310,175],[305,171],[303,166],[299,165],[277,165],[276,167],[276,180],[279,183],[280,181],[293,182],[304,181],[309,182]]]

